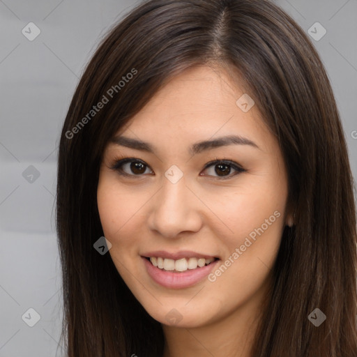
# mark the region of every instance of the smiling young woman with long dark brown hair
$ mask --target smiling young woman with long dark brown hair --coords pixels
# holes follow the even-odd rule
[[[151,0],[63,125],[68,356],[352,357],[356,211],[305,33],[261,0]]]

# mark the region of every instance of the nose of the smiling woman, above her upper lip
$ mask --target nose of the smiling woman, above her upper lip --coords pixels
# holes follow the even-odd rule
[[[201,204],[201,206],[200,206]],[[148,225],[166,238],[183,232],[197,232],[202,227],[202,203],[181,179],[171,183],[164,179],[162,188],[151,200]]]

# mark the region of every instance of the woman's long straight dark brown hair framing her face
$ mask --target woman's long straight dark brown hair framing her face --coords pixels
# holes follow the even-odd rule
[[[162,356],[160,323],[110,255],[93,248],[103,236],[99,167],[112,135],[170,78],[202,64],[225,68],[255,100],[280,144],[295,212],[294,227],[282,234],[252,356],[356,357],[356,208],[344,133],[316,50],[266,0],[146,1],[109,32],[86,67],[58,163],[61,340],[68,357]],[[326,315],[319,327],[308,319],[315,308]]]

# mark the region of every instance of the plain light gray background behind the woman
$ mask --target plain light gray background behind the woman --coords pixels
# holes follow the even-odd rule
[[[0,0],[0,357],[62,356],[54,230],[60,130],[96,45],[139,2]],[[335,91],[356,178],[357,0],[276,2],[307,33],[321,36],[315,22],[327,31],[312,42]],[[40,29],[32,41],[22,33],[29,22]],[[29,308],[40,314],[33,327],[25,323],[35,321]]]

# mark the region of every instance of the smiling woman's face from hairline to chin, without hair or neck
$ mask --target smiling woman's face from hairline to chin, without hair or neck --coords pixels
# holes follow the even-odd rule
[[[288,219],[287,174],[278,142],[243,94],[223,71],[191,68],[105,149],[98,209],[109,254],[162,324],[254,314],[271,283]]]

